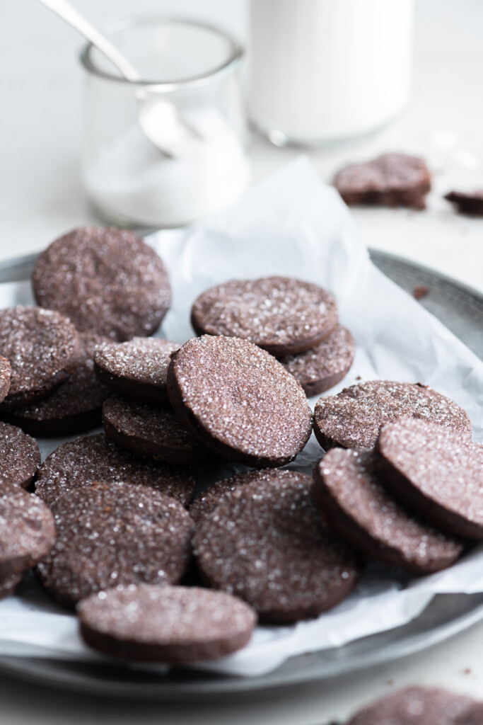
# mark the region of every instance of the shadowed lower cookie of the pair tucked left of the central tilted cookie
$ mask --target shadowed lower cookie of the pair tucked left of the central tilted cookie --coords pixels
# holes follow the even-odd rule
[[[206,457],[172,410],[115,395],[102,407],[102,422],[110,440],[136,455],[182,465]]]

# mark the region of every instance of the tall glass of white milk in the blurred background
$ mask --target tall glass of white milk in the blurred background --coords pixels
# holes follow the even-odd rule
[[[251,0],[251,117],[277,145],[362,136],[411,86],[413,0]]]

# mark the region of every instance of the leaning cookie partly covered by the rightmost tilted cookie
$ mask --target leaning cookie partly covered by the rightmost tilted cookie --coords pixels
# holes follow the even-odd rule
[[[413,518],[386,492],[369,451],[332,448],[316,465],[312,494],[356,551],[424,574],[451,566],[463,544]]]

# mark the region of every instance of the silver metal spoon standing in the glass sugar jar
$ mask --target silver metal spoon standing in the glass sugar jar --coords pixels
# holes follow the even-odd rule
[[[142,80],[138,71],[130,62],[117,50],[102,33],[85,20],[67,0],[38,0],[45,7],[65,20],[86,40],[108,58],[122,78],[132,83]],[[138,101],[138,121],[140,128],[148,141],[169,159],[177,156],[177,149],[186,138],[198,137],[199,135],[188,123],[180,119],[177,107],[169,101],[155,98],[148,93],[148,88],[138,88],[135,97]]]

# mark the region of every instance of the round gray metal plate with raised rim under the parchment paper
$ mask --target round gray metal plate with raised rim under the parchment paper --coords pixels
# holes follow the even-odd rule
[[[421,305],[440,318],[483,359],[483,295],[439,273],[382,252],[371,252],[377,267],[410,294],[428,286]],[[0,282],[30,276],[35,255],[0,265]],[[345,647],[287,660],[261,677],[224,677],[178,670],[167,675],[133,671],[122,666],[59,660],[0,657],[0,671],[53,687],[140,700],[211,700],[253,697],[281,687],[297,687],[361,668],[405,657],[442,642],[483,620],[482,595],[438,595],[422,615],[406,626],[358,639]]]

